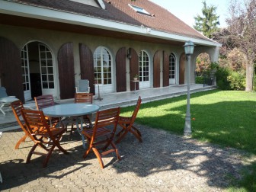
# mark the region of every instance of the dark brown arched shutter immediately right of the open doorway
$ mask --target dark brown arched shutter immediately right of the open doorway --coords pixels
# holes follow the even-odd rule
[[[66,43],[60,47],[58,52],[58,69],[60,98],[74,98],[75,70],[73,43]]]

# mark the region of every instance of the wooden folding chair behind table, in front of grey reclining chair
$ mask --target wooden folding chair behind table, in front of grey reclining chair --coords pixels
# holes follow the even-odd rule
[[[92,93],[75,93],[75,103],[88,103],[88,104],[92,104],[93,101],[93,94]],[[71,118],[71,120],[69,119],[69,123],[72,123],[71,126],[71,130],[70,130],[70,135],[69,137],[72,135],[73,130],[75,130],[74,128],[74,124],[76,123],[76,119],[75,118]],[[82,117],[82,122],[83,124],[85,124],[85,126],[92,126],[91,123],[91,115],[85,115]],[[83,125],[81,125],[83,126]]]

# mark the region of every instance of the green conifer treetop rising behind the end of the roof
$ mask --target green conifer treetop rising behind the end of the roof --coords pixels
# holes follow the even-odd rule
[[[212,34],[219,30],[219,16],[216,15],[216,6],[206,5],[206,2],[203,2],[202,13],[203,17],[197,14],[195,19],[195,25],[193,26],[196,30],[203,32],[203,35],[206,37],[212,38]]]

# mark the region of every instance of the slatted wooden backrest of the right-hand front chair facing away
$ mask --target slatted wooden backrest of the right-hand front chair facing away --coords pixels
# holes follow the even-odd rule
[[[113,126],[110,128],[110,129],[113,129],[112,130],[113,136],[111,136],[111,139],[113,139],[114,133],[117,130],[119,114],[120,114],[120,107],[98,111],[96,114],[95,123],[94,123],[93,138],[97,136],[97,131],[101,130],[101,127]]]

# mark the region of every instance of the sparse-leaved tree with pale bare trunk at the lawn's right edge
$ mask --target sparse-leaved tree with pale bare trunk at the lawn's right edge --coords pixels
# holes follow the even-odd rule
[[[245,91],[253,90],[254,62],[256,53],[256,0],[232,1],[229,7],[230,18],[227,19],[229,31],[235,45],[246,56]]]

